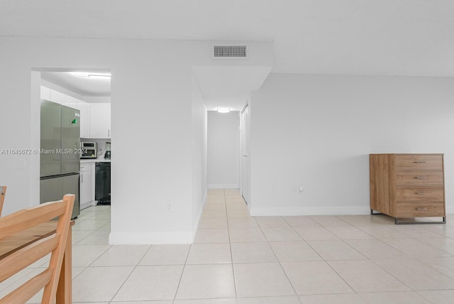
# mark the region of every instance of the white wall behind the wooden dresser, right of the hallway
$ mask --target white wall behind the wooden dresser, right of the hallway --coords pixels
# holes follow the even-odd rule
[[[453,97],[453,78],[270,74],[251,99],[251,215],[367,214],[369,153],[445,153],[454,212]]]

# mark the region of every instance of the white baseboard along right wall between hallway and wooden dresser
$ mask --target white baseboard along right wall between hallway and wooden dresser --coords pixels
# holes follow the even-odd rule
[[[260,216],[297,216],[297,215],[370,215],[370,207],[343,206],[343,207],[250,207],[251,217]]]

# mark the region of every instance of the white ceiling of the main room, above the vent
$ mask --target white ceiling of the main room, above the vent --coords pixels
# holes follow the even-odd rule
[[[453,0],[1,0],[0,36],[270,41],[272,72],[454,77]]]

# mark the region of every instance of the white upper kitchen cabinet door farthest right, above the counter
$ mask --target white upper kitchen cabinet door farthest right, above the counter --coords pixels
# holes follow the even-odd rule
[[[90,104],[90,138],[111,138],[111,104]]]

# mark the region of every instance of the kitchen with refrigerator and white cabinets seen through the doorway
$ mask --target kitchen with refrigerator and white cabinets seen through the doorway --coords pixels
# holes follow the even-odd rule
[[[40,202],[74,192],[72,218],[111,204],[110,79],[104,71],[41,73]]]

